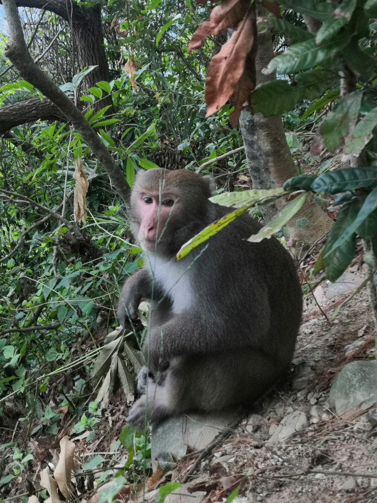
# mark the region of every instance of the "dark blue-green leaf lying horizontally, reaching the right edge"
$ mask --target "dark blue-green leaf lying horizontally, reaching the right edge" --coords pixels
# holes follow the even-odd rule
[[[312,184],[315,192],[338,194],[349,190],[377,186],[377,166],[348,167],[319,176]]]

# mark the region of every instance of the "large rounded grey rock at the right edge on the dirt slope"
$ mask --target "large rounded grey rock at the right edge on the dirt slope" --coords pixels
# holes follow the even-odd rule
[[[335,377],[329,403],[337,414],[360,410],[377,402],[377,361],[358,360],[348,363]]]

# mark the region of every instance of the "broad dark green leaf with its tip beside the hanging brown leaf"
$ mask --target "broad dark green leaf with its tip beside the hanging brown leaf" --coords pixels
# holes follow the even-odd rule
[[[339,77],[330,70],[308,70],[296,75],[294,85],[287,80],[263,82],[251,94],[253,112],[265,117],[293,110],[304,99],[314,100],[335,85]]]

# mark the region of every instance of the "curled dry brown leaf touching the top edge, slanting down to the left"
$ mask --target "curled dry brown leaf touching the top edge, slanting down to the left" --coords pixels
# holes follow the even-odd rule
[[[204,0],[206,1],[206,0]],[[198,4],[203,4],[198,2]],[[210,20],[204,21],[195,31],[190,41],[187,52],[202,47],[203,40],[208,35],[219,35],[222,30],[235,28],[244,18],[250,6],[250,0],[223,0],[223,2],[212,9]]]

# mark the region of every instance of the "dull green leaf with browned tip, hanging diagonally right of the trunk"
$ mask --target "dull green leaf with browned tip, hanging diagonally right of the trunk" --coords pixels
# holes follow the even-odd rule
[[[323,143],[334,152],[344,141],[357,120],[361,106],[362,92],[354,91],[336,105],[331,114],[322,122],[320,132]]]

